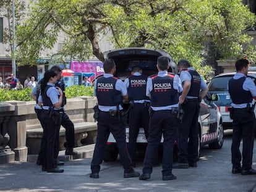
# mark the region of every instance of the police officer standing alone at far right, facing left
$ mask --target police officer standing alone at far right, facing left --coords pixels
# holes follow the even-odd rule
[[[247,59],[237,60],[237,73],[228,82],[228,91],[233,102],[231,104],[231,107],[233,107],[231,108],[233,119],[232,173],[241,173],[242,175],[256,174],[256,170],[252,169],[255,135],[255,115],[252,99],[256,96],[256,86],[251,78],[246,77],[248,65]],[[243,140],[242,155],[239,150],[241,139]]]

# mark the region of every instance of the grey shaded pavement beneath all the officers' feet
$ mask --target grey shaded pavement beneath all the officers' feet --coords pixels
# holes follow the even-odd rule
[[[212,150],[202,149],[202,156],[197,168],[174,169],[177,180],[163,181],[161,166],[153,168],[153,174],[148,181],[138,178],[124,178],[123,169],[117,159],[116,162],[101,164],[100,178],[90,178],[90,162],[95,144],[76,148],[81,159],[65,156],[59,152],[59,159],[65,161],[61,166],[64,173],[47,173],[36,165],[36,156],[29,156],[28,162],[13,162],[0,165],[1,192],[49,192],[49,191],[77,191],[77,192],[205,192],[231,191],[256,192],[256,175],[241,175],[231,173],[231,137],[226,138],[223,148]],[[256,154],[256,148],[254,149]],[[142,173],[143,158],[135,168]],[[253,159],[256,168],[256,157]]]

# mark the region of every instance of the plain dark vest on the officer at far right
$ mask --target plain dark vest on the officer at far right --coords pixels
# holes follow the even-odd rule
[[[228,81],[228,92],[231,96],[232,102],[234,104],[242,104],[252,102],[252,94],[250,91],[245,91],[242,88],[246,77],[242,77],[239,79],[231,78]]]

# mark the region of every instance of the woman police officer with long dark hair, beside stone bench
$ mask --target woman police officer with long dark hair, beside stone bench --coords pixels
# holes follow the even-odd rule
[[[41,123],[43,124],[42,138],[42,170],[51,173],[62,173],[63,169],[59,169],[55,160],[55,143],[59,138],[59,128],[61,127],[60,108],[62,105],[63,93],[55,83],[58,80],[57,73],[52,70],[45,72],[43,80],[41,80],[41,100],[43,101],[43,111],[41,112]],[[38,103],[42,102],[38,98]]]

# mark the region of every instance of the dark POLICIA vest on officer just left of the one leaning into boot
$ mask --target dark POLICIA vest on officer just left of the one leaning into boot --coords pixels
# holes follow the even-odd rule
[[[100,106],[116,106],[121,104],[121,91],[116,90],[116,77],[100,77],[97,79],[96,97]]]

